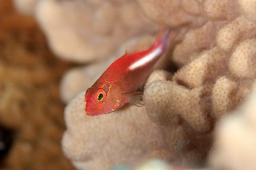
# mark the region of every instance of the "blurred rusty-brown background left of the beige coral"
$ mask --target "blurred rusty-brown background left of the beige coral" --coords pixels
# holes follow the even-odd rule
[[[11,1],[0,1],[0,20],[0,124],[14,131],[0,168],[74,169],[61,150],[58,93],[70,64],[55,59],[34,18],[18,14]]]

